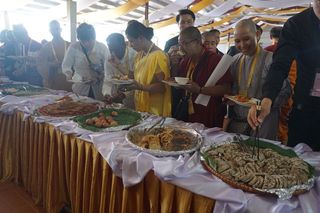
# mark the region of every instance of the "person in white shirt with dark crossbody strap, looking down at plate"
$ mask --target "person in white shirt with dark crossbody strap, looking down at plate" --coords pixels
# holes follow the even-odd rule
[[[103,64],[109,50],[103,43],[95,40],[95,30],[91,24],[81,23],[76,28],[76,37],[79,41],[71,43],[67,49],[62,62],[62,72],[67,82],[70,82],[73,66],[74,74],[91,81],[74,83],[72,91],[102,101]]]

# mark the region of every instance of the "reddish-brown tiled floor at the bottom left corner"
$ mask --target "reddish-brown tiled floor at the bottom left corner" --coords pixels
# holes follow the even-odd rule
[[[22,185],[0,183],[0,213],[45,213],[43,206],[34,204]]]

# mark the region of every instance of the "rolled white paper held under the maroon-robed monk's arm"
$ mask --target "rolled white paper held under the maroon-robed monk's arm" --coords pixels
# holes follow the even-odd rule
[[[207,86],[214,86],[215,83],[225,74],[226,70],[229,68],[233,60],[233,57],[224,54],[219,61],[218,65],[215,67],[213,72],[211,73],[209,79],[205,83],[205,87]],[[203,106],[207,106],[211,96],[199,94],[198,97],[196,97],[194,103],[196,104],[202,104]]]

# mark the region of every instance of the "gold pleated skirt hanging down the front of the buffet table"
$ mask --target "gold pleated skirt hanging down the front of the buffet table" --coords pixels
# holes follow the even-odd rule
[[[58,213],[212,213],[215,200],[159,181],[151,170],[125,189],[92,143],[48,123],[0,113],[0,181],[23,184],[35,204]]]

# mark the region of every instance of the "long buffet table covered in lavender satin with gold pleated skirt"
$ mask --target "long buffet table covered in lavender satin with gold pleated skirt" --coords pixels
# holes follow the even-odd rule
[[[156,157],[133,148],[125,140],[126,130],[91,132],[70,119],[32,116],[34,109],[53,103],[52,97],[66,94],[50,90],[36,96],[0,97],[1,181],[24,184],[47,212],[57,212],[65,204],[71,204],[72,212],[320,212],[320,153],[305,144],[293,150],[316,167],[314,187],[278,202],[276,197],[222,182],[203,166],[196,152]],[[142,116],[139,126],[161,119]],[[230,141],[235,135],[172,118],[164,124],[196,130],[204,138],[203,146]]]

